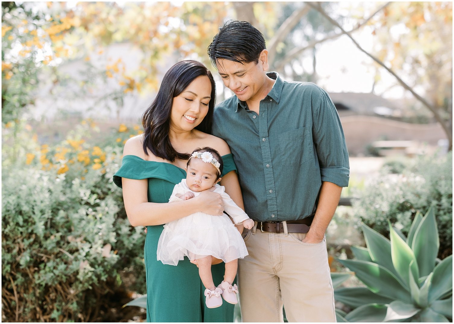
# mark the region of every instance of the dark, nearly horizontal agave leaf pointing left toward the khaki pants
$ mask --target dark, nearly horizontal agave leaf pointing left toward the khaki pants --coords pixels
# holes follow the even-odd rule
[[[365,304],[389,304],[394,299],[374,294],[366,287],[349,287],[334,290],[334,299],[357,308]]]

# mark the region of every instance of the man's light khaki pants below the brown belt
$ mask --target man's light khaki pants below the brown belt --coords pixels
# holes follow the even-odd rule
[[[256,223],[257,226],[257,223]],[[243,322],[336,322],[326,239],[301,242],[303,233],[267,233],[254,226],[244,238],[249,255],[239,259]]]

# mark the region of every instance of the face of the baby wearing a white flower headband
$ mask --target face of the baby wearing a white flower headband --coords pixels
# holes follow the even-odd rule
[[[192,157],[186,169],[186,184],[192,191],[200,192],[210,189],[217,183],[217,170],[202,159]]]

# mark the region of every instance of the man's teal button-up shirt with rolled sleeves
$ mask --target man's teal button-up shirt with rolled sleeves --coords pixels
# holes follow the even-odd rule
[[[214,109],[213,134],[237,165],[247,215],[254,221],[294,221],[314,215],[322,182],[347,187],[348,152],[328,94],[276,72],[260,115],[236,96]]]

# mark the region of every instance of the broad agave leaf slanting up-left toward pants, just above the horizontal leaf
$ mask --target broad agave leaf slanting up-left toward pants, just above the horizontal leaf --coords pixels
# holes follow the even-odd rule
[[[354,271],[356,277],[375,294],[411,303],[409,290],[385,267],[368,261],[337,260],[351,271]]]

